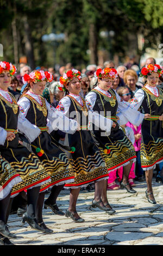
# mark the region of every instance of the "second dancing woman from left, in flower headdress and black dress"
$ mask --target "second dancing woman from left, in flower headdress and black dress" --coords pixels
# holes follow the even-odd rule
[[[30,124],[36,127],[36,131],[39,131],[39,136],[32,143],[32,150],[38,155],[43,167],[51,176],[51,182],[41,186],[37,209],[37,222],[45,229],[45,232],[50,233],[50,230],[42,220],[45,190],[52,187],[51,194],[45,200],[46,208],[51,208],[55,214],[65,215],[63,211],[58,209],[55,200],[63,185],[74,180],[74,170],[65,150],[62,148],[63,146],[49,133],[57,129],[57,123],[60,130],[74,133],[78,129],[78,124],[75,120],[66,118],[64,114],[57,111],[41,96],[48,78],[52,80],[52,75],[43,70],[33,71],[29,75],[24,75],[23,82],[27,83],[27,87],[24,89],[18,104],[20,105],[22,117],[26,117]],[[49,133],[47,125],[52,129]]]

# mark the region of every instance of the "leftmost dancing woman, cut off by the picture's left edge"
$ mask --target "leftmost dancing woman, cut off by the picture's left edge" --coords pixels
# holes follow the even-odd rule
[[[0,143],[0,152],[2,157],[7,160],[14,169],[11,172],[12,182],[2,184],[2,198],[5,197],[5,204],[1,208],[3,212],[3,220],[1,220],[0,234],[5,237],[10,237],[9,230],[6,223],[9,212],[7,213],[10,194],[16,196],[19,192],[27,189],[28,196],[28,210],[27,210],[27,222],[30,226],[36,230],[42,231],[42,228],[37,224],[35,220],[37,199],[39,197],[40,186],[50,181],[49,175],[43,168],[39,158],[28,151],[26,147],[19,144],[17,129],[23,130],[23,132],[29,137],[30,141],[33,141],[40,131],[34,132],[34,126],[31,125],[26,118],[21,118],[19,115],[19,107],[17,102],[8,92],[8,86],[11,82],[11,75],[14,74],[16,68],[14,65],[8,62],[0,62],[0,123],[1,123],[1,135],[3,136]],[[7,166],[8,168],[8,166]],[[10,172],[10,170],[9,170]],[[4,173],[2,168],[2,174]],[[14,174],[15,173],[15,174]],[[17,179],[12,179],[12,174],[21,177],[20,182],[17,183]],[[8,172],[6,173],[7,179]],[[8,180],[10,181],[10,180]],[[7,186],[5,186],[7,185]],[[3,200],[2,200],[3,201]],[[4,222],[4,218],[6,219]],[[16,236],[14,236],[16,238]]]

